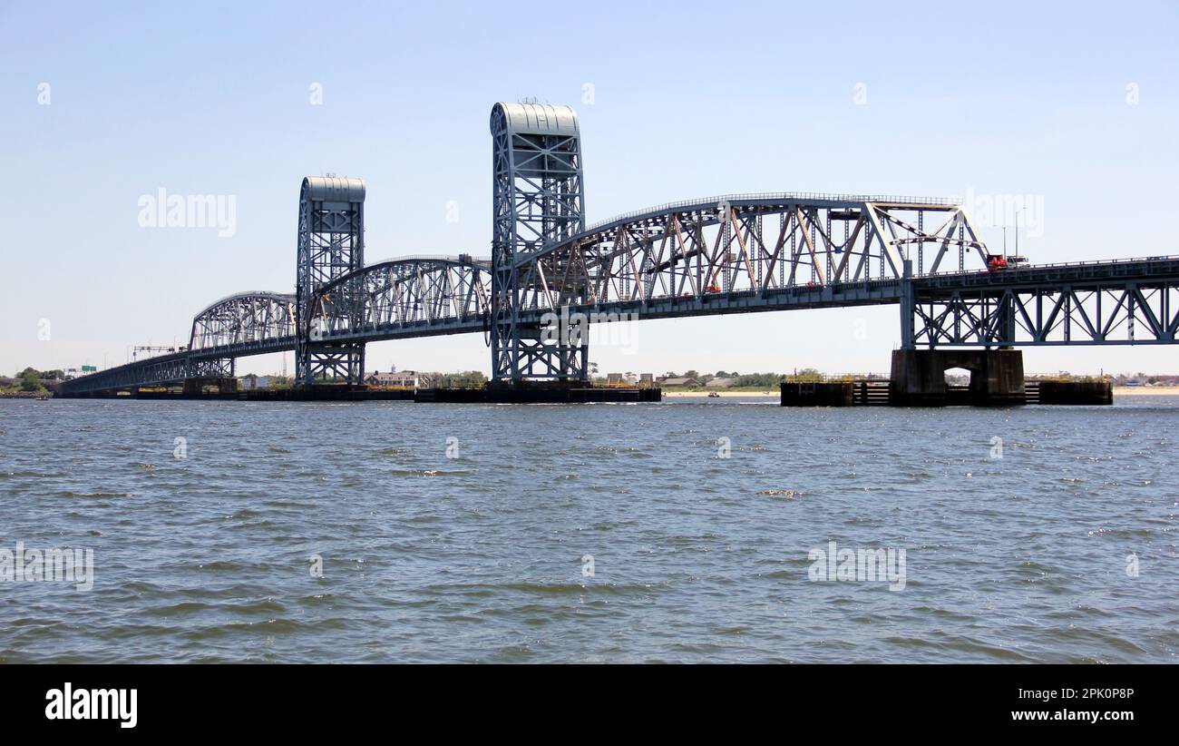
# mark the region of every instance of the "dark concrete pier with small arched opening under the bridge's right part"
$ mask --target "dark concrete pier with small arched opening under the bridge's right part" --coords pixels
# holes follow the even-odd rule
[[[1020,349],[894,349],[889,404],[954,404],[946,387],[946,371],[949,368],[970,372],[969,395],[962,404],[1025,404],[1023,352]]]

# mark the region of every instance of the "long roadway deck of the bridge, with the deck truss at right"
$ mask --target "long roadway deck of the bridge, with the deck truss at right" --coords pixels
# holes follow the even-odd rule
[[[758,313],[804,308],[844,308],[851,306],[878,306],[901,303],[905,284],[913,293],[913,301],[920,309],[924,303],[942,303],[948,299],[997,301],[1010,297],[1019,305],[1020,299],[1034,299],[1036,314],[1025,312],[1025,319],[1016,316],[1022,338],[993,340],[984,338],[968,340],[937,340],[933,346],[1000,343],[1036,346],[1054,343],[1174,343],[1179,334],[1179,257],[1150,257],[1105,262],[1033,266],[1005,271],[973,271],[927,275],[909,280],[869,280],[865,282],[839,282],[826,286],[802,284],[768,290],[735,290],[729,293],[703,293],[689,296],[663,296],[648,300],[610,301],[595,305],[571,305],[569,313],[633,314],[635,320],[672,319],[713,314]],[[1157,294],[1157,301],[1147,302],[1146,294]],[[1102,294],[1120,294],[1131,299],[1126,303],[1109,302],[1102,312]],[[1047,299],[1049,302],[1043,303]],[[1091,308],[1086,310],[1084,302]],[[1067,307],[1067,308],[1066,308]],[[1052,319],[1053,309],[1056,319]],[[1145,309],[1145,310],[1144,310]],[[1126,319],[1139,319],[1139,331],[1134,336],[1133,325],[1120,338],[1111,338],[1108,323],[1098,323],[1100,313],[1108,316],[1121,313]],[[1135,313],[1137,312],[1137,313]],[[539,325],[552,309],[533,308],[521,313],[521,321]],[[920,310],[918,310],[920,314]],[[1036,315],[1036,319],[1032,316]],[[1068,329],[1067,321],[1076,319],[1078,329]],[[1085,321],[1087,320],[1087,321]],[[975,319],[974,332],[979,332]],[[1117,321],[1117,320],[1114,320]],[[1119,323],[1125,326],[1125,323]],[[486,333],[486,314],[444,315],[433,319],[389,321],[386,323],[360,323],[322,331],[324,343],[376,342],[384,340],[439,336],[444,334]],[[265,333],[265,329],[248,331]],[[1055,333],[1056,339],[1052,339]],[[996,332],[997,334],[997,332]],[[1144,336],[1145,334],[1145,336]],[[65,385],[66,393],[88,393],[132,388],[136,386],[178,385],[190,379],[216,379],[232,375],[226,361],[249,355],[290,352],[296,347],[294,334],[269,336],[261,340],[235,341],[212,345],[139,360],[74,379]]]

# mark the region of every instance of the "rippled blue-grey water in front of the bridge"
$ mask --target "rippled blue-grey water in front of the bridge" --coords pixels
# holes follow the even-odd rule
[[[95,564],[0,583],[0,661],[1174,661],[1177,441],[1168,397],[0,400],[0,547]]]

